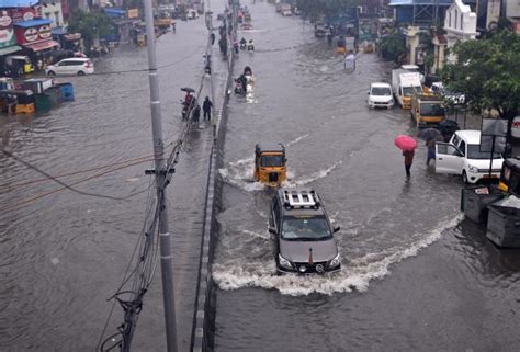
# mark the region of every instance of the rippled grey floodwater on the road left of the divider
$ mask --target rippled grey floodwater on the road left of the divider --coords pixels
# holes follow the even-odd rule
[[[157,42],[167,152],[183,126],[180,88],[200,86],[206,38],[201,18],[179,21],[177,33]],[[74,83],[75,102],[45,115],[0,116],[3,148],[18,158],[79,191],[124,198],[61,190],[0,155],[1,351],[95,350],[112,308],[106,299],[123,280],[148,192],[155,193],[152,177],[145,175],[154,169],[146,47],[121,47],[94,66],[98,75],[56,79]],[[214,77],[222,89],[223,63],[215,63]],[[203,81],[202,99],[211,92],[210,79]],[[168,188],[180,351],[191,338],[211,145],[211,124],[201,123]],[[159,270],[145,296],[135,351],[166,349]],[[104,337],[122,323],[116,305]]]

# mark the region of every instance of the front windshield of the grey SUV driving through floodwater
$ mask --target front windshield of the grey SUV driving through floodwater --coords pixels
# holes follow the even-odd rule
[[[324,240],[331,238],[324,216],[286,217],[282,224],[282,238],[286,240]]]

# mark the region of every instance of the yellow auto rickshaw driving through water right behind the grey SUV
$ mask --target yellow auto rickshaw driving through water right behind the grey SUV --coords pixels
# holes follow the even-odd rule
[[[257,144],[255,148],[255,181],[280,186],[287,179],[285,147],[282,144]]]

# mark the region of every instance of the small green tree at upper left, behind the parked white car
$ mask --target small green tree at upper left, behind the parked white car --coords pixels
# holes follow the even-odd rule
[[[78,11],[75,12],[72,18],[69,20],[68,31],[71,33],[81,33],[87,47],[87,53],[89,53],[93,39],[95,37],[109,35],[113,26],[114,25],[110,18],[102,11]]]

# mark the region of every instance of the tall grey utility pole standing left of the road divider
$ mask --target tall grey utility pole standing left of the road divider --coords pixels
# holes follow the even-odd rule
[[[156,164],[157,205],[159,207],[159,247],[165,304],[166,342],[168,352],[177,352],[176,303],[173,297],[173,273],[171,268],[170,231],[168,229],[168,206],[166,202],[167,174],[162,122],[160,115],[159,79],[157,77],[156,35],[151,0],[145,2],[146,45],[148,48],[148,80],[150,84],[151,133]]]

